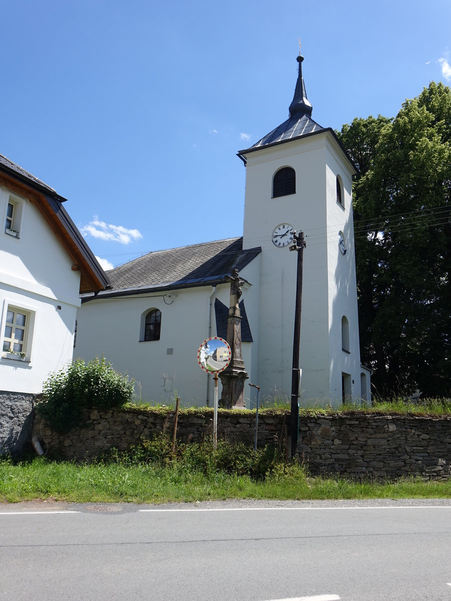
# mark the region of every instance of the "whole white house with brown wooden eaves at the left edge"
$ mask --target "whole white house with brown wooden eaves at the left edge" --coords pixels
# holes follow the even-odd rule
[[[64,200],[0,154],[0,450],[22,401],[72,359],[79,294],[109,286]]]

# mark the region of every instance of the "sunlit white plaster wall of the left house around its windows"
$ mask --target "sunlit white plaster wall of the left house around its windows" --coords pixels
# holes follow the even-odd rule
[[[0,188],[2,224],[9,197]],[[0,356],[0,389],[35,394],[72,359],[80,274],[40,212],[25,198],[14,200],[21,204],[20,237],[0,228],[0,350],[8,305],[29,311],[31,330],[26,361]]]

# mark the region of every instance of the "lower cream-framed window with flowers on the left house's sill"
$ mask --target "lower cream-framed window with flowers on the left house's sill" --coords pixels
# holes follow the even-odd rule
[[[8,311],[12,311],[14,314],[13,322],[8,321]],[[17,314],[25,315],[25,326],[17,324]],[[34,331],[34,322],[35,322],[35,311],[29,307],[23,307],[20,304],[16,304],[15,302],[7,301],[4,302],[4,317],[1,323],[1,334],[0,334],[0,344],[1,344],[1,358],[8,359],[13,361],[23,361],[26,363],[30,362],[31,358],[31,345],[32,345],[32,337]],[[7,337],[7,328],[11,328],[11,336]],[[14,336],[16,333],[16,328],[19,330],[23,330],[23,340],[19,340]],[[14,342],[15,341],[15,342]],[[9,344],[9,349],[5,349],[5,345]],[[13,345],[21,346],[21,350],[14,350]],[[12,346],[13,352],[10,351]]]

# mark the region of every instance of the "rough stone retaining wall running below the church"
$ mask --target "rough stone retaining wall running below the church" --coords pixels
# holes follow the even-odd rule
[[[200,441],[212,430],[211,409],[180,413],[177,439]],[[52,432],[38,415],[33,433],[43,439],[43,449],[67,459],[94,457],[110,447],[119,450],[152,438],[156,433],[173,432],[174,413],[138,410],[91,409],[85,415],[86,427],[68,435]],[[259,415],[259,445],[281,444],[289,412]],[[252,445],[255,413],[221,410],[218,437]],[[451,476],[451,417],[423,418],[375,414],[340,413],[327,417],[299,419],[299,455],[312,473],[348,473],[375,477],[422,475],[431,478]]]

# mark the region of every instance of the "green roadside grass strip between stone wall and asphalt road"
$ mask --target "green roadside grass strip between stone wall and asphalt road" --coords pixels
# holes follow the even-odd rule
[[[252,453],[252,451],[250,451]],[[213,499],[450,498],[451,480],[419,478],[382,483],[310,477],[299,465],[272,466],[265,478],[189,469],[179,463],[75,463],[35,457],[0,460],[0,501],[163,503]]]

